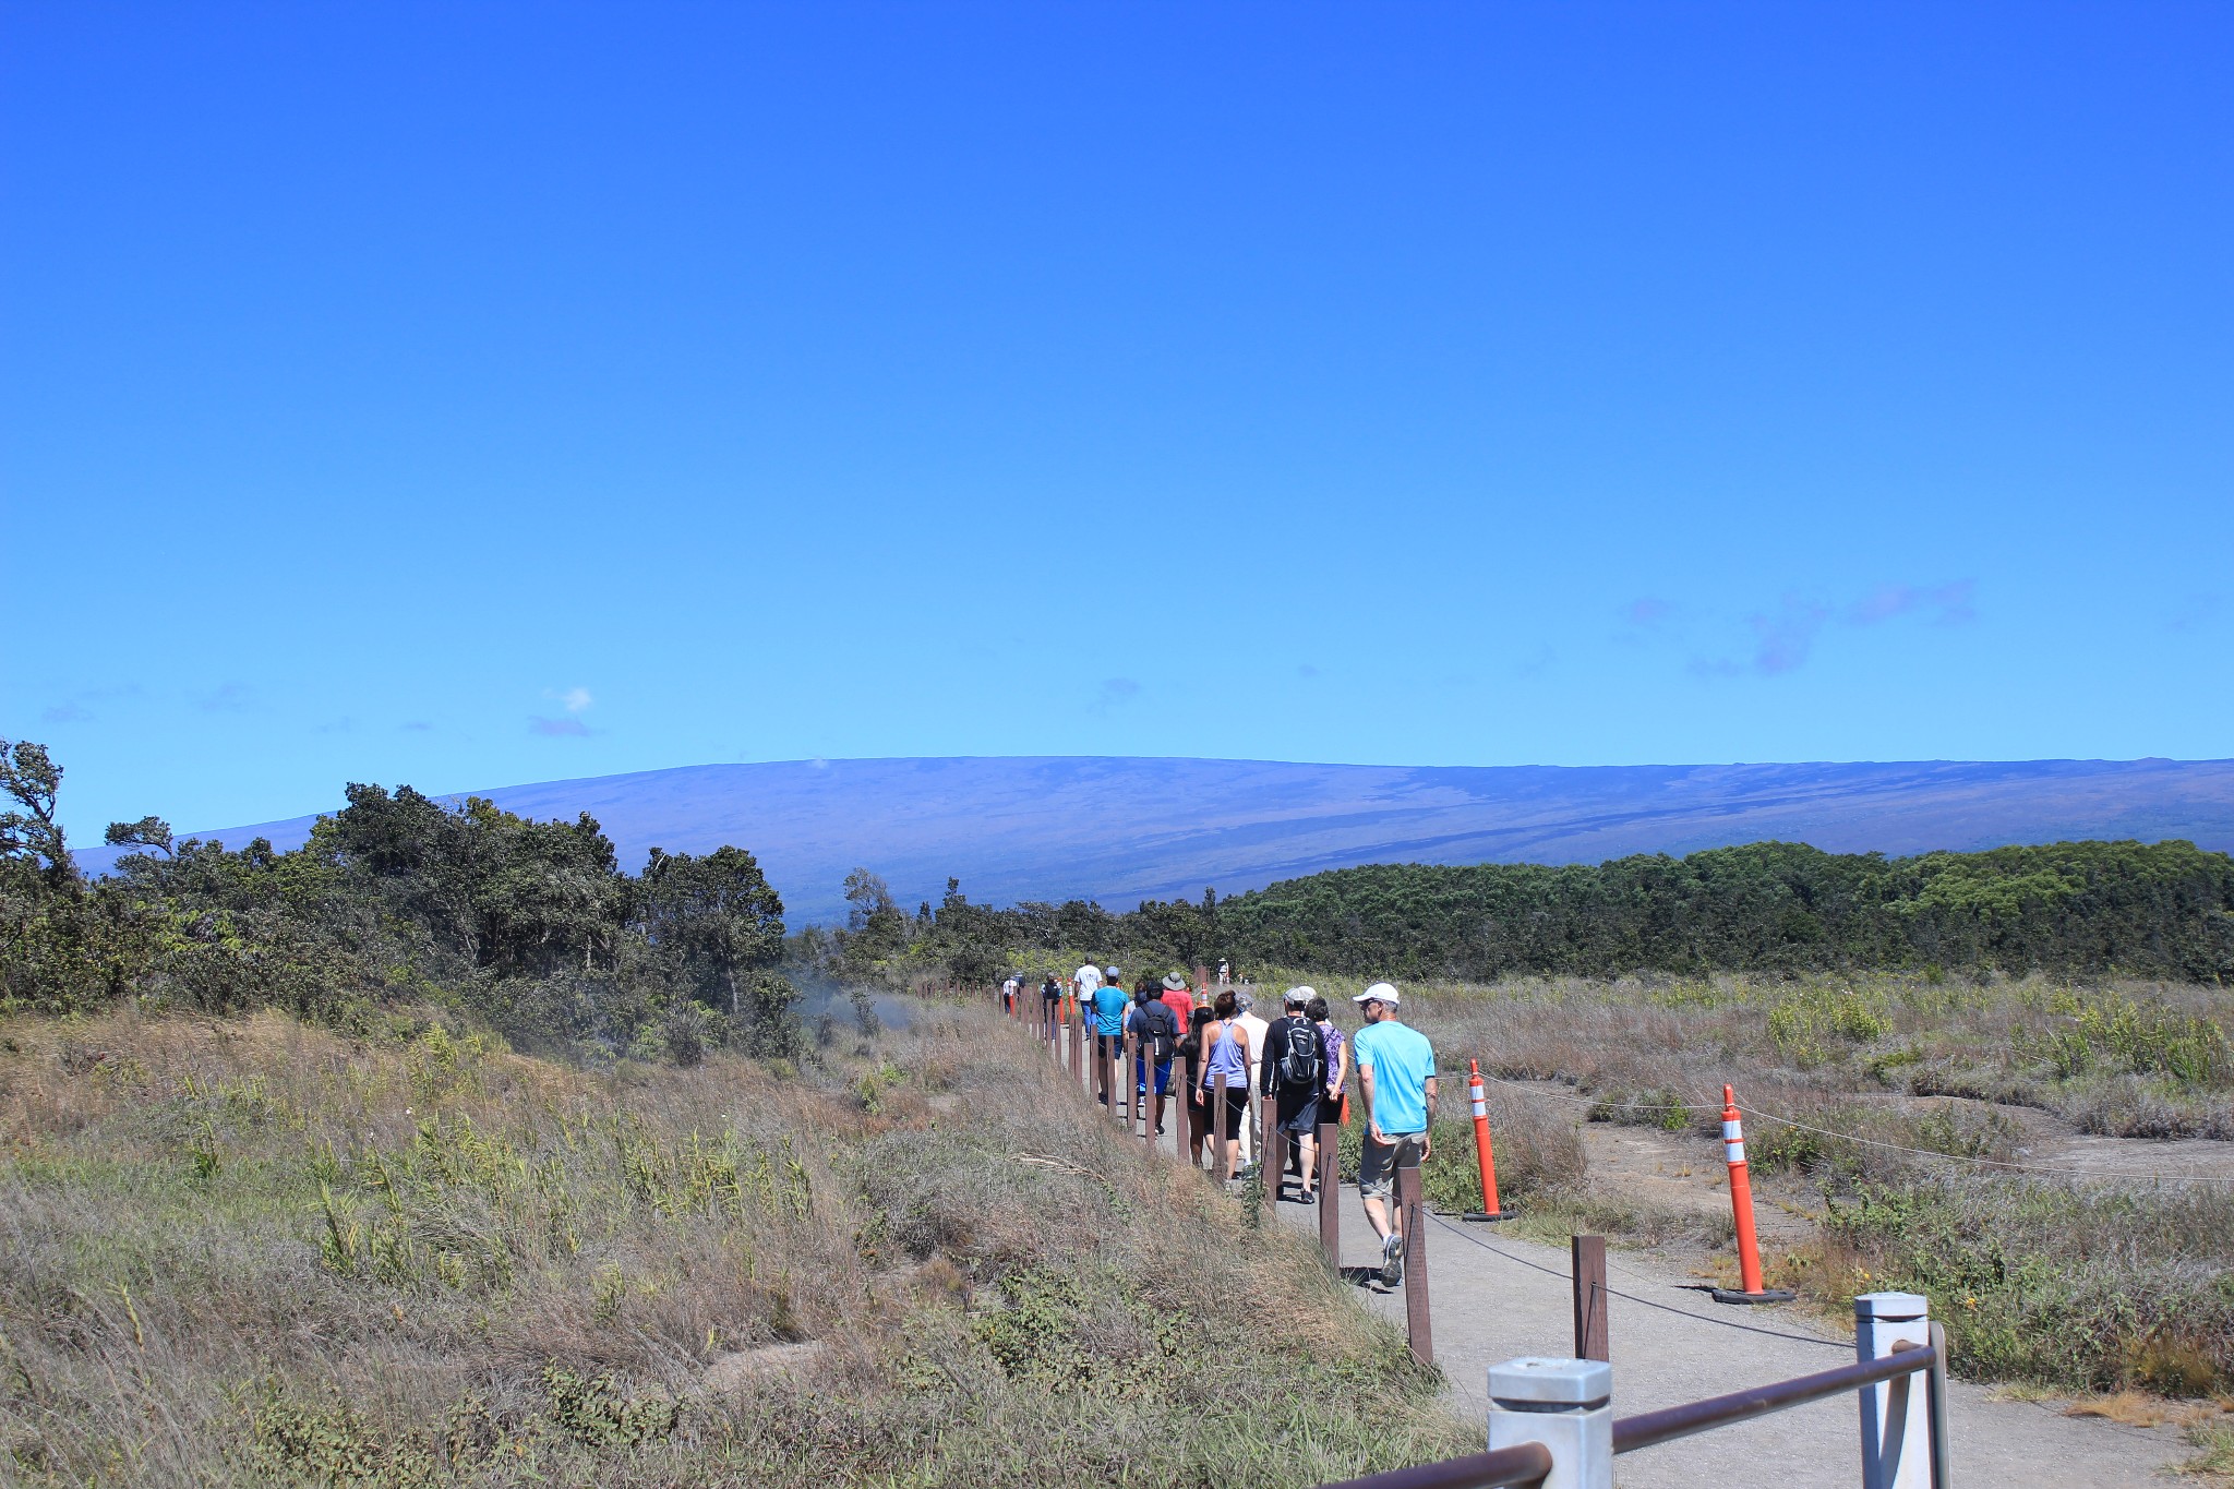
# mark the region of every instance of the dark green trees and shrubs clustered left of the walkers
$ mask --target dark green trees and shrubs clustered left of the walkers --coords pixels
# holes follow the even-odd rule
[[[706,1043],[786,1054],[798,993],[780,973],[784,904],[742,848],[652,848],[621,873],[583,813],[527,822],[478,797],[349,786],[311,842],[277,853],[172,842],[87,880],[54,804],[63,772],[0,741],[0,1009],[121,998],[351,1022],[393,1005],[458,1007],[525,1043],[695,1058]]]

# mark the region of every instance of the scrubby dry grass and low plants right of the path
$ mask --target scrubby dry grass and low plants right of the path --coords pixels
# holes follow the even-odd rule
[[[2049,1165],[2037,1147],[2062,1123],[2234,1134],[2221,1054],[2234,998],[2223,989],[1524,978],[1407,987],[1405,1007],[1445,1069],[1479,1058],[1519,1083],[1492,1087],[1519,1109],[1492,1123],[1499,1176],[1508,1127],[1562,1116],[1678,1134],[1718,1170],[1729,1080],[1756,1109],[1745,1125],[1763,1203],[1783,1192],[1823,1214],[1821,1243],[1772,1250],[1778,1281],[1836,1313],[1854,1293],[1923,1293],[1948,1322],[1957,1368],[1979,1380],[2183,1397],[2234,1386],[2234,1185],[2149,1181],[2147,1154],[2133,1181],[2028,1172]],[[1463,1139],[1459,1152],[1470,1163]],[[1700,1230],[1698,1217],[1573,1179],[1544,1185],[1521,1228],[1635,1243],[1729,1237],[1727,1221]]]

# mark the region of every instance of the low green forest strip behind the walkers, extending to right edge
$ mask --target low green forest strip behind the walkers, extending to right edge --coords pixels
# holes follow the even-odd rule
[[[856,875],[860,880],[862,875]],[[867,875],[873,880],[873,875]],[[882,884],[873,884],[880,895]],[[983,978],[1034,951],[1130,964],[1302,967],[1486,980],[1503,973],[1984,969],[2234,973],[2234,859],[2187,842],[1984,853],[1747,844],[1606,864],[1372,864],[1202,902],[945,902],[914,920],[849,893],[856,971]]]

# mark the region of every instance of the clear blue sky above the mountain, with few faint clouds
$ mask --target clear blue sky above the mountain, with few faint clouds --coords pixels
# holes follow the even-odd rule
[[[2223,4],[7,4],[78,839],[858,755],[2234,755]]]

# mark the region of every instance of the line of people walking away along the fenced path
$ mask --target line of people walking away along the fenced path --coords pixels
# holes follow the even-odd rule
[[[1251,991],[1224,984],[1215,993],[1191,989],[1180,973],[1142,976],[1126,991],[1117,967],[1086,964],[1072,982],[1079,1016],[1092,1036],[1095,1069],[1115,1069],[1130,1047],[1133,1069],[1126,1074],[1157,1136],[1164,1134],[1177,1074],[1188,1118],[1186,1156],[1197,1168],[1209,1161],[1215,1172],[1222,1152],[1226,1183],[1262,1172],[1264,1154],[1256,1152],[1256,1132],[1247,1121],[1256,1092],[1287,1136],[1293,1199],[1307,1205],[1331,1199],[1318,1192],[1318,1130],[1323,1121],[1349,1121],[1354,1092],[1365,1118],[1358,1194],[1381,1241],[1383,1281],[1396,1286],[1403,1279],[1403,1230],[1392,1188],[1398,1168],[1416,1168],[1432,1152],[1434,1045],[1403,1022],[1403,993],[1394,984],[1374,982],[1352,998],[1363,1027],[1347,1036],[1334,1022],[1327,998],[1311,987],[1287,989],[1280,1018],[1267,1020],[1251,1007]],[[1021,978],[1003,984],[1012,1007],[1021,991]],[[1050,976],[1039,991],[1052,1025],[1063,998],[1061,980]],[[1104,1105],[1113,1098],[1121,1101],[1119,1092],[1099,1092]],[[1285,1176],[1264,1181],[1282,1183],[1280,1197],[1287,1199]]]

